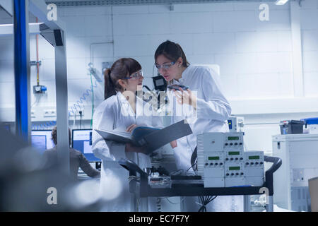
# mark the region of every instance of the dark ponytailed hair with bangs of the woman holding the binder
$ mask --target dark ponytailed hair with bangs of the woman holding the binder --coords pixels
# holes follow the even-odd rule
[[[131,75],[131,73],[139,70],[141,70],[141,65],[135,59],[117,59],[117,61],[112,64],[112,67],[107,69],[104,73],[105,100],[112,95],[116,95],[116,91],[119,91],[122,88],[118,83],[119,79],[124,79],[127,74]]]

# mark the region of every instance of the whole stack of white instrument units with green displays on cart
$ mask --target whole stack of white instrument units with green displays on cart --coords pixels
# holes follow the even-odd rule
[[[204,179],[204,187],[264,184],[264,153],[245,153],[243,146],[242,132],[197,136],[198,174]]]

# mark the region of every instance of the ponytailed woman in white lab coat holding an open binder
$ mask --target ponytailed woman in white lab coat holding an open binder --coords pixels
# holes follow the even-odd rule
[[[105,100],[93,115],[92,146],[94,155],[102,160],[100,187],[102,198],[107,201],[104,211],[134,210],[129,193],[129,172],[119,165],[118,160],[133,160],[141,169],[151,167],[150,157],[141,153],[141,148],[105,141],[95,131],[122,129],[131,132],[136,126],[162,126],[158,118],[142,112],[148,104],[135,95],[142,89],[142,81],[141,65],[131,58],[118,59],[105,71]],[[153,211],[153,207],[149,206],[148,210]]]

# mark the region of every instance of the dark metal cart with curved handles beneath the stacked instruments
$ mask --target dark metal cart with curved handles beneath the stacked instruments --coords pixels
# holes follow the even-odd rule
[[[136,186],[136,181],[132,180],[129,183],[129,191],[133,194],[133,200],[136,201],[136,193],[140,197],[171,197],[171,196],[244,196],[244,211],[250,211],[250,195],[266,194],[266,211],[273,212],[273,173],[281,167],[282,161],[279,157],[264,156],[265,162],[271,162],[273,165],[265,172],[265,182],[263,186],[237,186],[237,187],[222,187],[222,188],[204,188],[183,186],[175,188],[151,188],[148,185],[148,174],[143,172],[131,160],[119,160],[122,167],[129,170],[129,176],[136,177],[140,175],[140,186]],[[138,188],[138,191],[137,189]]]

